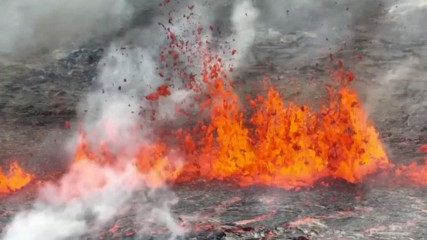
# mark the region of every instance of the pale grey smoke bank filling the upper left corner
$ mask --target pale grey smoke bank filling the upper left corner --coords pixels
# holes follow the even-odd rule
[[[126,26],[133,8],[127,0],[3,0],[0,49],[21,53],[78,46]]]

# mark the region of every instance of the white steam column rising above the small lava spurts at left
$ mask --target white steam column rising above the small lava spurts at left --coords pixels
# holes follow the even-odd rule
[[[142,98],[161,85],[156,63],[149,51],[121,48],[112,44],[108,54],[101,59],[97,77],[100,88],[89,93],[87,100],[79,106],[83,113],[86,111],[83,127],[92,133],[88,136],[89,142],[113,141],[111,147],[118,149],[136,147],[130,143],[143,137],[135,135],[138,133],[136,128],[144,125],[149,130],[147,119],[139,114],[147,107]],[[132,156],[131,152],[129,156]]]

